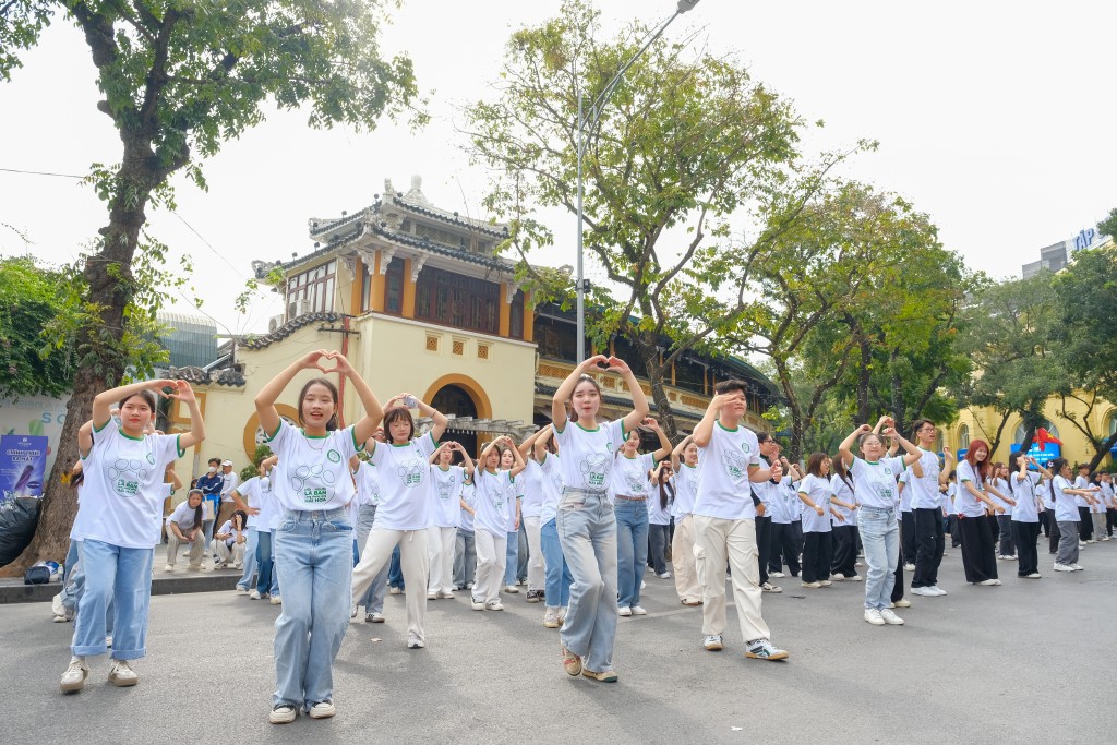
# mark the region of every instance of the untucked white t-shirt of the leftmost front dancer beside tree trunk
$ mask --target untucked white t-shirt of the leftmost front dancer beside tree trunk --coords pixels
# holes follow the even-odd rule
[[[178,434],[134,439],[111,419],[82,459],[85,483],[70,537],[153,548],[163,537],[163,474],[183,455]]]

